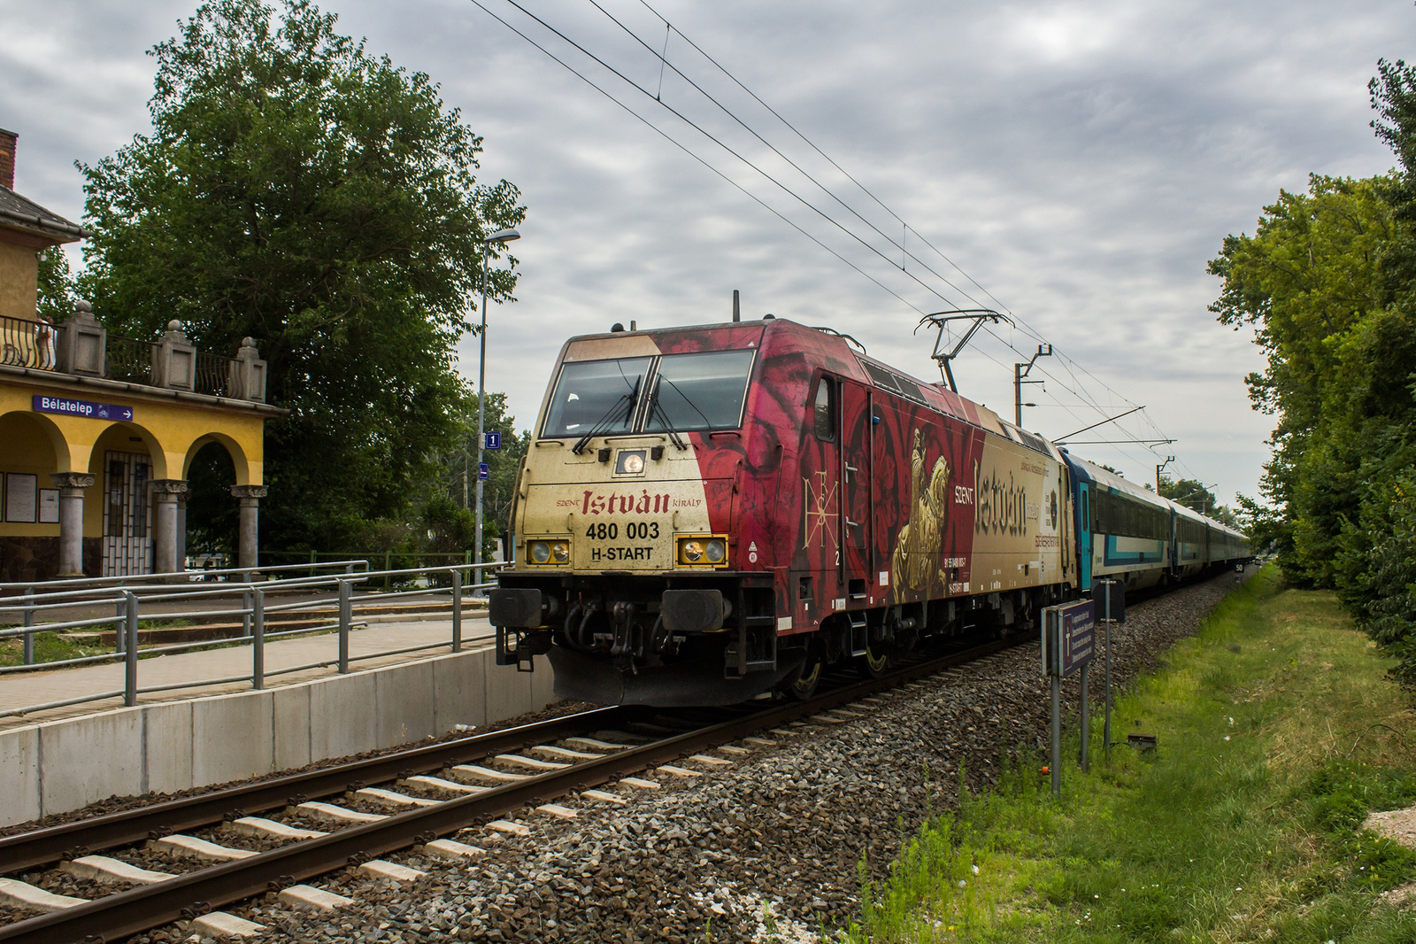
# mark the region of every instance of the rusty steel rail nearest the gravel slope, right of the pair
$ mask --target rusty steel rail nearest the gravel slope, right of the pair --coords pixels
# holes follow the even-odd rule
[[[118,940],[150,930],[183,917],[204,914],[215,907],[241,901],[272,889],[285,887],[348,865],[428,842],[439,835],[463,829],[483,816],[496,816],[527,804],[568,790],[583,790],[616,780],[673,758],[705,750],[724,741],[746,737],[765,727],[780,727],[801,717],[830,710],[840,704],[895,687],[905,682],[935,675],[943,669],[973,662],[1003,649],[1029,642],[1029,635],[1001,639],[973,649],[926,659],[889,672],[877,679],[857,682],[806,702],[789,702],[738,719],[711,724],[694,731],[658,741],[630,747],[603,758],[585,761],[497,787],[470,797],[449,799],[436,807],[423,807],[388,819],[350,826],[316,839],[263,852],[249,859],[238,859],[191,872],[127,892],[119,892],[85,904],[25,918],[0,927],[0,941],[18,944],[55,944],[55,941]],[[619,709],[599,709],[613,712]],[[593,714],[593,713],[585,713]],[[585,717],[568,716],[573,717]],[[506,734],[513,734],[507,731]],[[524,730],[524,729],[523,729]],[[524,737],[524,734],[523,734]],[[330,771],[346,780],[348,768]],[[273,782],[270,784],[273,785]],[[219,805],[219,804],[218,804]],[[122,815],[122,814],[119,814]]]

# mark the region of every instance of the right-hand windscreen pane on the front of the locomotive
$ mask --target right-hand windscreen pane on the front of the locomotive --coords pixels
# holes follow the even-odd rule
[[[646,432],[736,429],[752,373],[750,350],[664,354],[653,383]]]

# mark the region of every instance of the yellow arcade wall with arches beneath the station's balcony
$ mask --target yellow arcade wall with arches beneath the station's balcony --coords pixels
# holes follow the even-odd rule
[[[262,483],[262,427],[269,418],[255,410],[212,407],[160,394],[135,394],[86,384],[42,383],[0,374],[0,471],[27,472],[44,465],[48,472],[88,472],[93,486],[84,502],[84,534],[102,533],[103,452],[146,452],[152,478],[184,479],[197,451],[217,441],[231,455],[236,485]],[[35,412],[34,394],[51,394],[133,408],[132,422]],[[16,431],[16,439],[10,431]],[[21,438],[23,437],[23,438]],[[47,451],[45,451],[47,449]],[[38,471],[38,469],[35,469]],[[41,475],[41,488],[50,488]],[[235,499],[232,499],[235,500]],[[23,534],[58,534],[52,524],[16,524]],[[44,530],[41,530],[44,529]]]

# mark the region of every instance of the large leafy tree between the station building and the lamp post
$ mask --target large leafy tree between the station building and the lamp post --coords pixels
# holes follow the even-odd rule
[[[469,391],[481,240],[521,223],[481,139],[421,72],[340,35],[306,0],[212,0],[152,50],[153,133],[85,176],[82,288],[105,323],[201,347],[256,339],[268,398],[269,549],[344,549],[413,509]],[[490,293],[510,300],[515,259]]]

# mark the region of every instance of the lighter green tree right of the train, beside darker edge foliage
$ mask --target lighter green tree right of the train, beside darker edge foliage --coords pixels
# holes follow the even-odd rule
[[[1416,335],[1391,305],[1382,259],[1400,224],[1392,179],[1313,176],[1281,191],[1255,235],[1226,237],[1209,271],[1225,279],[1211,306],[1250,325],[1267,370],[1247,377],[1256,408],[1277,417],[1260,488],[1286,522],[1284,571],[1335,585],[1340,536],[1361,505],[1364,461],[1391,448],[1410,408],[1406,374]],[[1383,445],[1385,444],[1385,445]]]

